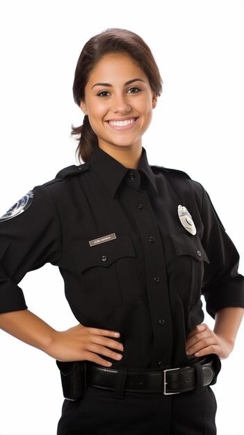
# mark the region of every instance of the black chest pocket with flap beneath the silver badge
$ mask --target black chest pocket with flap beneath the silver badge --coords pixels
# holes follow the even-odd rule
[[[204,263],[209,263],[209,258],[197,234],[170,233],[170,238],[174,247],[177,291],[188,304],[197,304],[201,296]]]

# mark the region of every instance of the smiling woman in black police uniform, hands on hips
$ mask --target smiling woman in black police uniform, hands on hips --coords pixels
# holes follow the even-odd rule
[[[209,385],[243,316],[238,253],[204,188],[147,162],[142,137],[162,81],[138,35],[91,38],[73,91],[85,163],[1,217],[0,326],[57,360],[66,397],[58,435],[213,435]],[[67,331],[31,313],[17,286],[47,262],[60,268],[79,321]],[[214,331],[202,323],[201,295]]]

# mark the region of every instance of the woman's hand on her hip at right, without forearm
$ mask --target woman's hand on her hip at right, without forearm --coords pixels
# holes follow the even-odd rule
[[[186,354],[205,356],[216,354],[220,359],[225,359],[233,350],[234,343],[220,334],[215,334],[208,325],[197,325],[186,340]]]

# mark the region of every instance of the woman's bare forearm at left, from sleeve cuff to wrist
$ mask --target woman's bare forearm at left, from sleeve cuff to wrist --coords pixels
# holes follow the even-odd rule
[[[55,329],[29,310],[0,314],[0,328],[33,347],[49,353]]]

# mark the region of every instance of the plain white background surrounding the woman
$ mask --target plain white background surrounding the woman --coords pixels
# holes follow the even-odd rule
[[[0,215],[76,163],[80,51],[105,28],[127,28],[152,48],[164,83],[143,142],[149,163],[200,181],[244,258],[243,18],[236,0],[1,1]],[[53,327],[76,324],[58,269],[45,265],[21,286],[29,309]],[[243,338],[244,325],[213,386],[219,435],[244,434]],[[55,435],[63,402],[55,361],[3,332],[0,340],[0,435]]]

